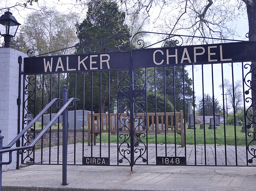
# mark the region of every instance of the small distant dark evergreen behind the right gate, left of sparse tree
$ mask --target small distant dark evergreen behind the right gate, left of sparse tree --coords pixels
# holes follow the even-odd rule
[[[204,98],[199,102],[199,115],[214,115],[213,108],[214,113],[220,113],[219,101],[216,98],[213,101],[209,94],[204,94]]]

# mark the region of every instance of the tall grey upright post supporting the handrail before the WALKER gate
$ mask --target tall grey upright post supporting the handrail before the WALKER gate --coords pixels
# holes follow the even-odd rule
[[[62,99],[63,105],[67,102],[68,90],[66,85],[63,86],[62,90]],[[62,123],[62,136],[63,136],[63,145],[62,145],[62,185],[68,185],[67,183],[67,161],[68,161],[68,109],[66,108],[63,113],[63,123]]]

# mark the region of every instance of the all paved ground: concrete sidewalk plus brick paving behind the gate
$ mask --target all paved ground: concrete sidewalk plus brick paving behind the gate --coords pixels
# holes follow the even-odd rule
[[[62,146],[51,147],[51,163],[61,164]],[[76,154],[74,156],[74,148]],[[245,165],[246,150],[244,146],[186,145],[186,161],[188,165],[215,165],[215,150],[217,165],[226,166],[81,166],[83,149],[84,156],[99,156],[100,146],[84,146],[81,143],[68,145],[67,183],[62,185],[62,166],[45,165],[49,163],[49,148],[43,149],[43,165],[32,165],[19,170],[3,172],[3,191],[211,191],[211,190],[246,190],[254,191],[256,168],[234,167],[230,165]],[[108,152],[110,148],[110,153]],[[141,145],[138,147],[141,148]],[[124,149],[127,149],[127,147]],[[175,145],[167,145],[167,156],[175,155]],[[36,160],[41,160],[41,150],[36,150]],[[237,152],[237,159],[235,153]],[[101,146],[101,156],[110,154],[110,164],[117,165],[117,145]],[[196,153],[196,155],[195,155]],[[185,156],[185,148],[177,146],[177,156]],[[59,155],[59,161],[57,156]],[[165,146],[157,145],[157,155],[165,155]],[[137,162],[136,162],[137,163]],[[138,164],[142,162],[138,160]],[[148,163],[156,164],[155,145],[148,145]],[[128,162],[123,162],[128,165]],[[122,165],[123,165],[122,164]]]

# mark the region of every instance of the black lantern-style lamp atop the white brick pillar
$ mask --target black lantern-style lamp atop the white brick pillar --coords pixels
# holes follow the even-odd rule
[[[10,48],[11,37],[15,37],[19,25],[9,10],[0,17],[0,35],[5,37],[5,48]]]

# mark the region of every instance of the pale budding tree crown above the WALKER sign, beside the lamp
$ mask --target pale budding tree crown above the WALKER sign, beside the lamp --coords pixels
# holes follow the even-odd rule
[[[64,14],[55,8],[45,8],[41,13],[36,11],[27,16],[21,25],[21,34],[17,40],[24,48],[30,48],[34,54],[44,54],[58,49],[48,55],[71,54],[75,49],[66,49],[77,42],[74,23],[78,21],[75,13]],[[24,49],[24,52],[28,51]]]

